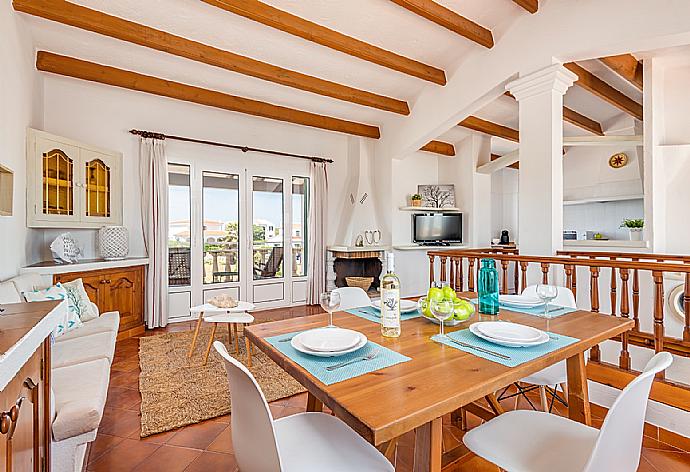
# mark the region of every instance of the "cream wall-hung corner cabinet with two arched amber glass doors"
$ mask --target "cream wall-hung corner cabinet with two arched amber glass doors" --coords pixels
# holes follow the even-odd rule
[[[122,224],[122,154],[35,129],[26,149],[30,228]]]

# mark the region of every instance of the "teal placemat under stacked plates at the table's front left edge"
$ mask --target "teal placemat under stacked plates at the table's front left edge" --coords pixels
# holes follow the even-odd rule
[[[400,364],[401,362],[412,360],[407,356],[403,356],[398,352],[392,351],[372,341],[369,341],[361,349],[343,356],[310,356],[308,354],[299,352],[297,349],[292,347],[289,341],[286,341],[286,339],[291,338],[300,332],[301,331],[295,331],[294,333],[271,336],[270,338],[266,338],[266,341],[326,385],[342,382],[343,380],[359,377],[360,375],[368,374],[369,372],[374,372],[395,364]],[[354,364],[350,364],[333,371],[326,370],[326,367],[329,365],[361,358],[374,350],[378,350],[379,353],[371,360],[355,362]]]

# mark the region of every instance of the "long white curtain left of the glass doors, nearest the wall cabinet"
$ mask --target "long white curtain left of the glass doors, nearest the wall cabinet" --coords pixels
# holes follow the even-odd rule
[[[168,169],[163,139],[139,141],[141,226],[149,257],[146,275],[146,326],[168,324]]]

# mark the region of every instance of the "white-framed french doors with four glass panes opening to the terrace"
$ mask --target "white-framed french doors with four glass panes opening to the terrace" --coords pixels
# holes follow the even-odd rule
[[[304,303],[308,161],[232,151],[169,160],[170,321],[219,294],[258,308]]]

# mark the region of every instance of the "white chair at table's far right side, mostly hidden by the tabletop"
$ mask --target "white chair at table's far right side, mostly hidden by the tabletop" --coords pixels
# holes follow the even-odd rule
[[[538,298],[537,286],[528,286],[522,291],[522,295]],[[575,295],[573,295],[573,292],[567,287],[558,287],[558,295],[550,303],[557,306],[577,308],[577,305],[575,304]],[[546,367],[545,369],[542,369],[537,373],[525,377],[524,379],[521,379],[520,382],[537,386],[539,388],[539,396],[541,398],[541,407],[544,411],[550,412],[553,403],[557,399],[560,400],[556,393],[558,387],[560,387],[563,391],[563,394],[567,396],[567,380],[568,372],[565,366],[565,361],[561,361],[557,362],[556,364],[550,365],[549,367]],[[518,389],[517,395],[524,395],[530,390],[530,388],[523,389],[519,384],[517,384],[516,386]],[[551,404],[549,404],[547,397],[547,387],[553,388]],[[500,400],[503,400],[505,398],[510,398],[510,396],[499,396]],[[527,398],[527,396],[525,396],[525,398]],[[529,398],[527,398],[527,401],[530,403],[530,405],[532,404],[532,402],[529,401]],[[532,406],[534,407],[534,405]]]

